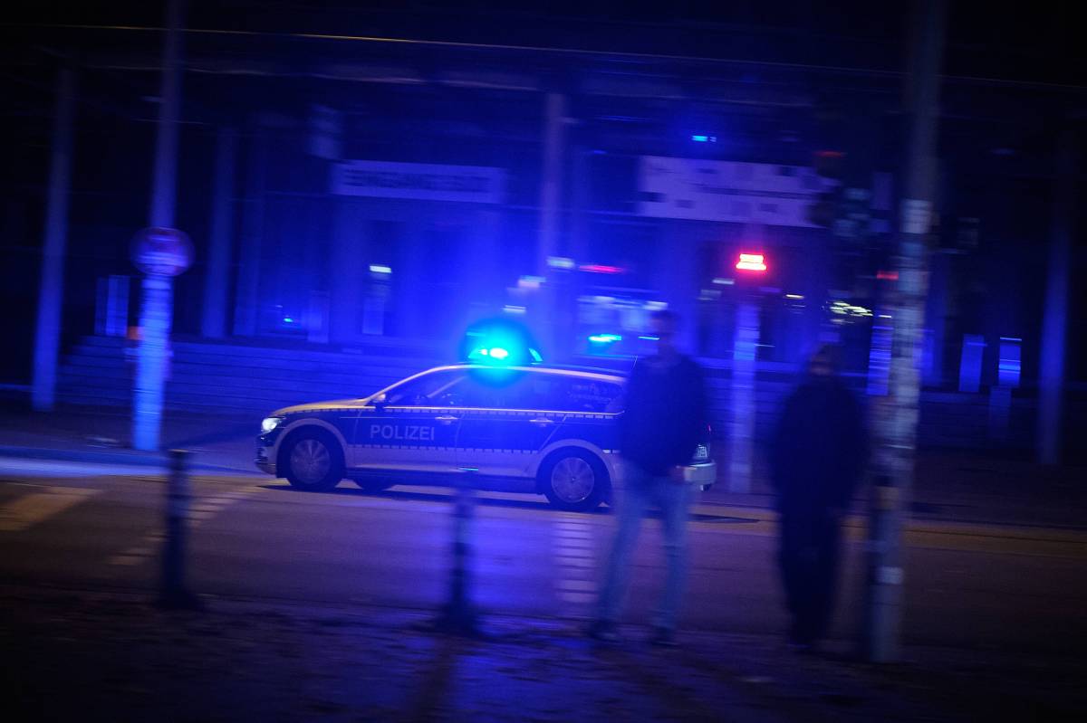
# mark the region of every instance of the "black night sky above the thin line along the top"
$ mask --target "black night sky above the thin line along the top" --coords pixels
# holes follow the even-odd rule
[[[954,2],[948,73],[1083,85],[1071,2]],[[21,3],[9,22],[158,27],[165,2]],[[497,8],[500,8],[497,9]],[[193,28],[330,33],[733,58],[898,71],[909,3],[745,2],[189,3]]]

